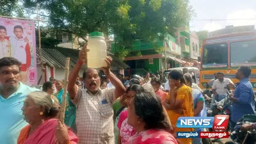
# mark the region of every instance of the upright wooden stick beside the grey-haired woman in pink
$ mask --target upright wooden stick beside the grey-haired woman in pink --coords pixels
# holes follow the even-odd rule
[[[68,73],[69,73],[69,61],[70,58],[67,58],[66,65],[65,65],[65,79],[63,82],[64,89],[63,89],[63,95],[62,95],[62,104],[61,104],[61,110],[60,110],[60,122],[64,124],[64,118],[65,118],[65,108],[66,108],[66,100],[67,100],[67,88],[68,88]]]

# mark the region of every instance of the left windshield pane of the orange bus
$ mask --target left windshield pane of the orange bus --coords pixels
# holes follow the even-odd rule
[[[228,63],[228,45],[204,45],[202,68],[225,68]]]

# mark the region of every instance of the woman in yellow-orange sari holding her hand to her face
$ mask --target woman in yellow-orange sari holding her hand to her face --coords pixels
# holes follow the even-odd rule
[[[170,91],[167,96],[165,108],[173,126],[177,125],[180,116],[193,116],[193,97],[192,90],[186,86],[184,76],[181,70],[172,70],[168,76]],[[174,133],[177,131],[193,131],[192,128],[174,127]],[[181,138],[182,143],[191,144],[191,138]]]

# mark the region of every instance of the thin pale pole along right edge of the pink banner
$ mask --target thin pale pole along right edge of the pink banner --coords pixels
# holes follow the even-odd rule
[[[36,13],[37,13],[37,25],[38,25],[38,50],[39,50],[39,57],[40,57],[41,70],[42,70],[42,74],[40,77],[42,77],[43,83],[44,83],[45,69],[44,69],[44,61],[43,61],[42,49],[41,49],[41,31],[40,31],[40,23],[39,23],[40,17],[38,15],[38,4],[36,4]],[[40,81],[41,79],[39,79],[38,84],[40,84]]]

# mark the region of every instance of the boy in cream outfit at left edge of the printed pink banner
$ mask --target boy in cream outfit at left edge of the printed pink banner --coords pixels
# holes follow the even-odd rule
[[[10,41],[5,38],[6,35],[6,28],[0,26],[0,58],[11,56],[11,44]]]

